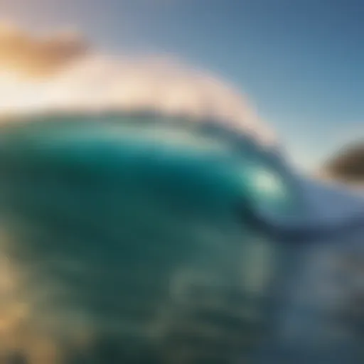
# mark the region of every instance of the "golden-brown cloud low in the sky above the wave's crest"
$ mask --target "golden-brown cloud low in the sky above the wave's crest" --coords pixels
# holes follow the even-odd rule
[[[0,24],[0,68],[24,76],[43,77],[62,70],[85,55],[88,44],[77,33],[33,34],[9,23]]]

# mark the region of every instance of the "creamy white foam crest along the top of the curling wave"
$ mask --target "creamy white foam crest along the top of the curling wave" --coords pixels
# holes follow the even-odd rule
[[[90,53],[62,72],[24,79],[0,72],[2,114],[150,110],[188,119],[222,120],[263,145],[274,134],[240,92],[217,77],[164,57],[108,57]]]

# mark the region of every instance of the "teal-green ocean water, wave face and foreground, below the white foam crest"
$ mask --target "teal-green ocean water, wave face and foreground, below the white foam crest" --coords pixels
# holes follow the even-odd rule
[[[0,363],[361,363],[363,231],[298,243],[264,228],[350,220],[317,213],[300,183],[214,122],[4,125]]]

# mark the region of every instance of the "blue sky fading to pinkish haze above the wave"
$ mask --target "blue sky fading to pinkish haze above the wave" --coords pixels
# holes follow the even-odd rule
[[[0,20],[222,77],[310,171],[364,139],[363,18],[362,0],[0,0]]]

